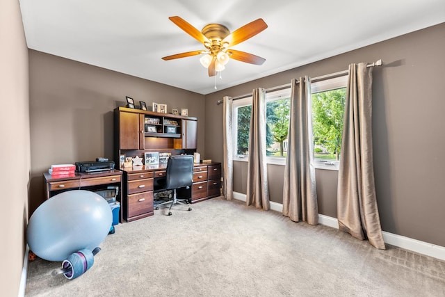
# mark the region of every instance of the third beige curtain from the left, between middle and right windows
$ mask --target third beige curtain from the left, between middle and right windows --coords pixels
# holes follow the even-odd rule
[[[318,224],[309,77],[291,81],[288,148],[284,167],[283,215],[295,222]]]

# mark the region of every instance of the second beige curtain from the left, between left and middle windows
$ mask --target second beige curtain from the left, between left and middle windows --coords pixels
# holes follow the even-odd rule
[[[250,118],[247,205],[268,210],[269,190],[266,163],[266,90],[253,90]]]

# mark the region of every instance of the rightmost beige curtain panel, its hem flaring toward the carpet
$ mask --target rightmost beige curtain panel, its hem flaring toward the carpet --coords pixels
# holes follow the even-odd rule
[[[340,230],[384,250],[373,170],[372,81],[366,63],[349,66],[337,213]]]

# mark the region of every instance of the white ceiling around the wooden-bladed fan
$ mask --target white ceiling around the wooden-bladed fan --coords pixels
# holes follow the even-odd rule
[[[445,22],[444,0],[19,1],[30,49],[200,94]],[[261,17],[268,28],[233,48],[266,62],[231,60],[220,79],[208,77],[200,56],[163,61],[204,49],[174,15],[198,30],[218,23],[230,31]]]

